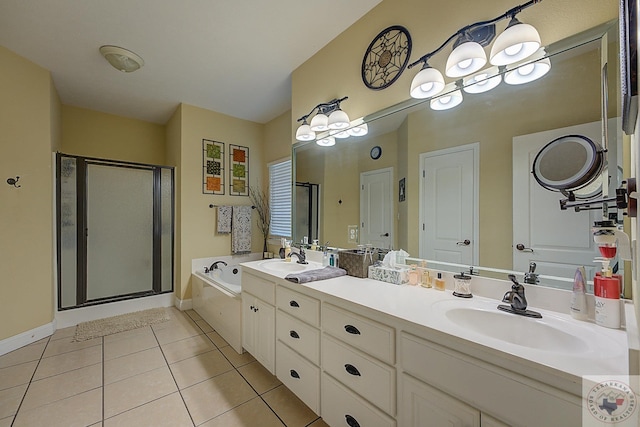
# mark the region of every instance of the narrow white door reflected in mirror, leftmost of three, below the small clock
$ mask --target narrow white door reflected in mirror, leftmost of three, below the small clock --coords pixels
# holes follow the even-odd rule
[[[360,174],[360,243],[393,245],[393,168]]]

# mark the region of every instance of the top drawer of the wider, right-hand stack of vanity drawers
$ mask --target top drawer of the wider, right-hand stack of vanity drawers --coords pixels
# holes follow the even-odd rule
[[[322,328],[383,362],[395,362],[395,330],[390,326],[323,304]]]

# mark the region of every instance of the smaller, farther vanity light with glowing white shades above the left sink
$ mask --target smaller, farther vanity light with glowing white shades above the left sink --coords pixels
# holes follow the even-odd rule
[[[318,104],[309,114],[300,117],[297,121],[302,124],[296,130],[296,139],[298,141],[316,140],[318,145],[330,147],[335,145],[335,138],[366,135],[369,132],[367,124],[361,118],[353,122],[349,121],[347,113],[340,109],[340,103],[346,99],[348,97],[345,96]]]

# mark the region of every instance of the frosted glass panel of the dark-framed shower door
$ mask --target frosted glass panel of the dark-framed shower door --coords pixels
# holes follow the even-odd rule
[[[151,168],[87,164],[87,301],[153,290]]]

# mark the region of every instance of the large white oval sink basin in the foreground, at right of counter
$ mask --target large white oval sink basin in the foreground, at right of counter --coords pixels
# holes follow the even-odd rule
[[[445,316],[469,331],[519,346],[562,353],[584,353],[589,349],[586,341],[550,325],[544,318],[475,308],[452,308]]]

